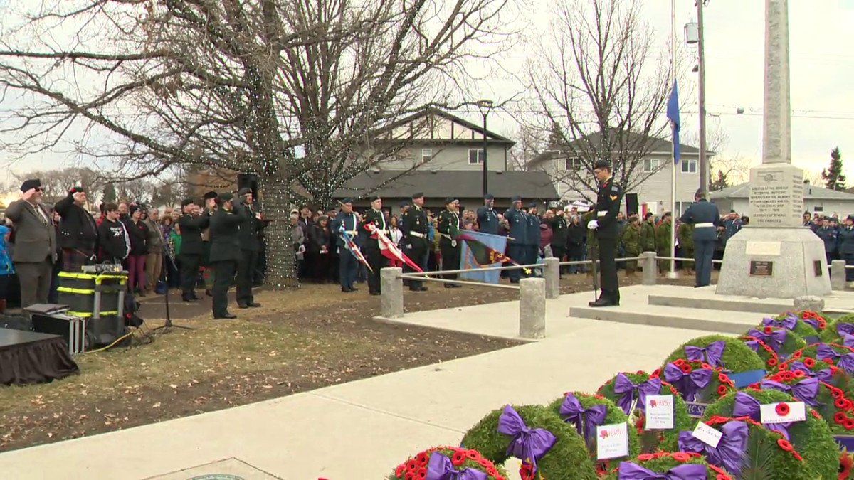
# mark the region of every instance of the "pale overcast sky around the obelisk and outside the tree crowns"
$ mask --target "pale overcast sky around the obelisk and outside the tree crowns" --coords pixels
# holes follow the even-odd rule
[[[0,5],[4,0],[0,0]],[[655,32],[660,49],[670,42],[670,2],[642,0],[643,15]],[[693,0],[677,0],[677,38],[684,45],[682,27],[694,20]],[[531,25],[525,32],[537,33],[549,28],[548,0],[535,0],[529,5]],[[711,0],[705,8],[706,102],[710,129],[726,132],[729,141],[720,155],[741,155],[759,162],[762,154],[763,108],[763,45],[764,2],[752,0]],[[845,173],[854,174],[854,0],[790,0],[789,35],[791,50],[791,101],[793,163],[811,171],[826,167],[830,150],[841,149],[843,160],[851,154]],[[685,48],[685,47],[681,47]],[[524,46],[502,58],[502,65],[523,73],[527,59]],[[690,66],[689,66],[690,68]],[[686,73],[688,82],[696,82],[696,74]],[[686,89],[697,91],[696,85]],[[506,75],[477,82],[472,95],[487,97],[495,102],[522,93],[518,81]],[[682,98],[683,138],[696,138],[697,102]],[[0,105],[0,108],[5,106]],[[8,107],[6,107],[8,108]],[[744,108],[745,114],[736,114]],[[456,112],[459,116],[480,123],[479,114],[471,109]],[[518,130],[514,115],[494,112],[489,117],[490,130],[513,138]],[[693,130],[692,132],[690,132]],[[103,139],[101,139],[103,141]],[[65,153],[48,153],[27,159],[16,165],[17,171],[50,169],[67,165]],[[0,173],[0,180],[3,175]],[[851,177],[854,179],[854,177]]]

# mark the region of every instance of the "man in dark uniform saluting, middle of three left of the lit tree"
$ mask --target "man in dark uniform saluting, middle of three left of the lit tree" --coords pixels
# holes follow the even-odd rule
[[[240,261],[239,225],[245,217],[245,209],[232,205],[234,196],[223,193],[217,197],[217,211],[210,220],[210,264],[213,266],[213,319],[237,319],[228,311],[228,289],[237,273]],[[237,208],[235,208],[237,207]]]

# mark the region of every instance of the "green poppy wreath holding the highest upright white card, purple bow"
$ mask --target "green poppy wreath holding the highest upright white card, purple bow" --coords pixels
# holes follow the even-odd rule
[[[660,449],[660,445],[676,442],[676,437],[680,430],[686,430],[691,427],[694,420],[688,415],[688,407],[679,392],[673,388],[670,383],[664,382],[658,376],[652,376],[646,372],[639,371],[635,373],[623,372],[632,383],[640,384],[651,378],[658,379],[661,382],[661,389],[658,390],[658,395],[673,395],[673,430],[645,430],[646,415],[644,414],[644,405],[635,407],[629,418],[629,425],[635,425],[635,429],[640,434],[640,452],[648,454]],[[614,382],[617,376],[614,376],[605,384],[603,384],[596,393],[604,396],[606,399],[617,403],[622,395],[614,393]],[[638,402],[640,404],[640,402]]]

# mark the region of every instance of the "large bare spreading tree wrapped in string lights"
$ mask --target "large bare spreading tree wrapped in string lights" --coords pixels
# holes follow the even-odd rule
[[[26,155],[70,141],[80,155],[120,165],[123,179],[186,165],[257,173],[272,220],[267,283],[295,284],[293,192],[329,205],[345,181],[401,154],[408,134],[389,129],[377,142],[377,130],[459,102],[471,78],[466,62],[503,48],[506,7],[506,0],[45,2],[24,26],[0,35],[0,85],[36,100],[0,127],[14,136],[0,147]],[[69,77],[87,80],[53,81]],[[123,141],[93,147],[69,138],[81,120],[88,136]]]

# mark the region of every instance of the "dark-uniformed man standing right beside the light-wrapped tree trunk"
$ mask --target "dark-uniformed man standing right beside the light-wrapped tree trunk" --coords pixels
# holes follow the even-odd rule
[[[254,279],[255,266],[258,265],[258,252],[260,251],[260,231],[264,230],[264,222],[261,214],[256,212],[252,206],[252,190],[240,189],[237,192],[241,204],[237,208],[243,208],[243,222],[240,224],[240,263],[237,264],[237,307],[249,308],[260,307],[261,304],[254,301],[252,295],[252,283]]]

